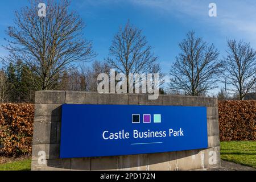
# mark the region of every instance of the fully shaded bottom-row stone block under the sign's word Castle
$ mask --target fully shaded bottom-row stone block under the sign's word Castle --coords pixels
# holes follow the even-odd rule
[[[95,171],[117,171],[118,157],[106,156],[100,158],[91,158],[90,165],[90,169]]]

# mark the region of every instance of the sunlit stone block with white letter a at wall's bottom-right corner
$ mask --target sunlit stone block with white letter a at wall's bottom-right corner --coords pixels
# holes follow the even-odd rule
[[[221,163],[220,159],[220,147],[212,147],[203,150],[204,154],[204,168],[219,167]]]

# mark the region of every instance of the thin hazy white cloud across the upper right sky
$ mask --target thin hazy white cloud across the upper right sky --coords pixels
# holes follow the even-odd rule
[[[191,19],[217,28],[224,36],[236,36],[256,46],[256,1],[195,1],[195,0],[130,0],[138,6],[148,7],[181,19]],[[209,3],[217,5],[217,17],[209,17]],[[233,37],[230,37],[233,38]]]

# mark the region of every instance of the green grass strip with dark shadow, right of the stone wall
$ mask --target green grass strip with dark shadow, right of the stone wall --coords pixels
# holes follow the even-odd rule
[[[256,141],[221,142],[221,159],[256,168]]]

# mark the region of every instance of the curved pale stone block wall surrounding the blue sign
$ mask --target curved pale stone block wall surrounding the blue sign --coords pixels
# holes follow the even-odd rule
[[[59,159],[62,104],[207,106],[208,147],[202,150],[125,155],[100,158]],[[39,164],[39,151],[46,164]],[[218,102],[216,98],[166,96],[148,100],[145,94],[39,91],[35,94],[32,170],[189,170],[220,166]]]

